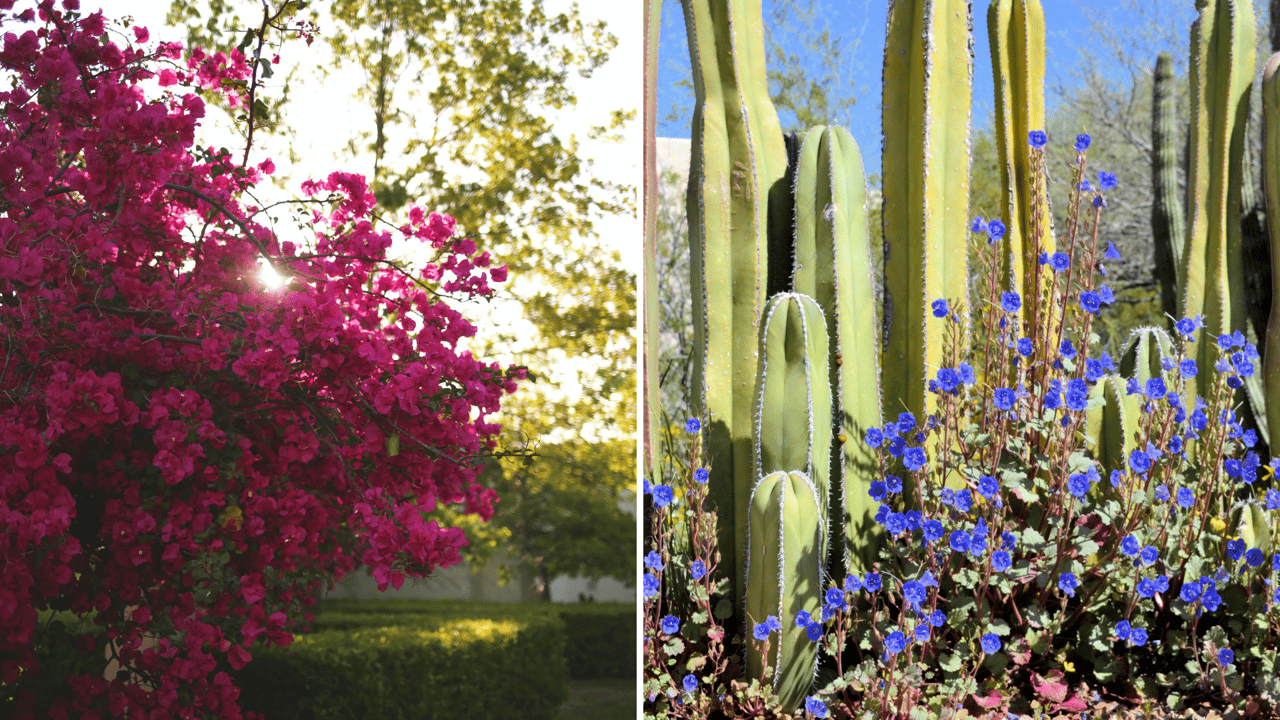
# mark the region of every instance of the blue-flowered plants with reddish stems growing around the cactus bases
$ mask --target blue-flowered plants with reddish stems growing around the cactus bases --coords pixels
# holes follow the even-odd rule
[[[1029,141],[1043,173],[1044,133]],[[984,269],[972,333],[966,299],[932,300],[948,341],[928,380],[937,413],[850,438],[879,459],[869,495],[886,541],[872,571],[832,577],[812,612],[733,633],[701,428],[689,421],[687,474],[645,487],[646,717],[788,716],[772,670],[746,676],[741,662],[748,643],[773,662],[783,624],[805,628],[823,657],[794,716],[1078,716],[1101,703],[1275,716],[1280,460],[1262,462],[1234,411],[1261,361],[1201,318],[1135,346],[1149,355],[1129,377],[1117,374],[1129,357],[1091,356],[1119,254],[1097,246],[1116,179],[1085,179],[1088,146],[1076,138],[1062,245],[1033,264],[1041,293],[1004,284],[1004,224],[974,219]],[[1213,346],[1213,366],[1197,365],[1197,343]],[[1208,397],[1198,374],[1213,378]]]

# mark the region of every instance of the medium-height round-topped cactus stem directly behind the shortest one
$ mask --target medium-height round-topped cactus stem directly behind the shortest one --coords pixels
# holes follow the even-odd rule
[[[769,299],[760,329],[755,471],[803,471],[818,491],[824,519],[832,445],[828,347],[817,301],[791,292]]]

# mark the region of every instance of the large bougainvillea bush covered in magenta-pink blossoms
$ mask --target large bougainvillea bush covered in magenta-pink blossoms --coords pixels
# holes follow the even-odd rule
[[[303,183],[195,146],[201,95],[251,106],[268,60],[183,59],[101,13],[0,0],[0,683],[18,717],[239,717],[227,669],[288,644],[357,564],[380,588],[460,560],[438,503],[488,520],[486,416],[521,372],[445,304],[506,279],[445,215],[376,225],[365,179]],[[261,32],[268,28],[264,24]],[[252,113],[250,113],[252,123]],[[248,133],[252,137],[252,133]],[[387,259],[396,233],[430,263]],[[260,281],[270,263],[285,284]],[[101,674],[42,676],[37,611],[105,628]],[[143,642],[146,639],[146,642]]]

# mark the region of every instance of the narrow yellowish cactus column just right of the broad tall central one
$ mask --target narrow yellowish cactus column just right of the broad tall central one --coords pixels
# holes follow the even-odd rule
[[[1043,173],[1032,168],[1033,129],[1044,129],[1044,9],[1038,0],[992,0],[987,8],[991,69],[996,81],[996,147],[1001,213],[1006,220],[1002,272],[1010,290],[1036,297],[1028,269],[1041,251],[1053,252],[1053,228]],[[1034,187],[1038,183],[1041,187]],[[1038,205],[1038,208],[1037,208]],[[1043,220],[1033,228],[1032,214]],[[1038,234],[1039,237],[1033,237]],[[1032,304],[1023,304],[1023,325]]]

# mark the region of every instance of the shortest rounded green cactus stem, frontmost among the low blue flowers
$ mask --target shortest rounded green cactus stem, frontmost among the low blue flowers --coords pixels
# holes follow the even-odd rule
[[[804,473],[771,473],[751,493],[746,621],[773,615],[782,623],[769,635],[769,666],[785,712],[800,706],[818,669],[818,643],[795,616],[820,612],[822,519],[818,491]],[[746,666],[749,678],[760,676],[764,659],[756,643],[748,643]]]

